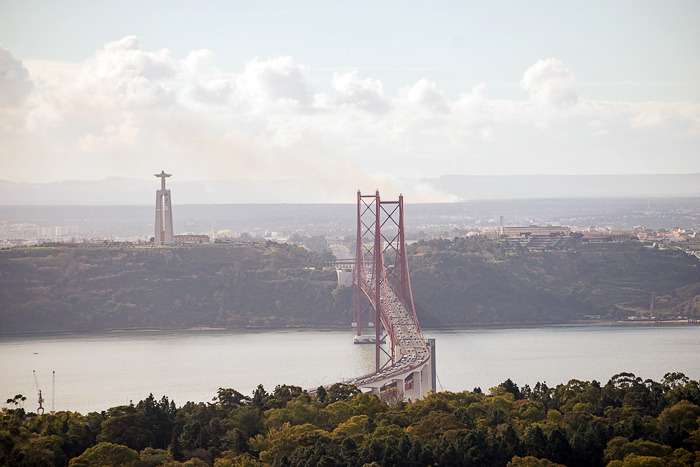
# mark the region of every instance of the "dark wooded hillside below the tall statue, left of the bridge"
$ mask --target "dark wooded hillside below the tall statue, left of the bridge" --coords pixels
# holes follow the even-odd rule
[[[0,251],[0,334],[350,321],[326,253],[293,245]]]

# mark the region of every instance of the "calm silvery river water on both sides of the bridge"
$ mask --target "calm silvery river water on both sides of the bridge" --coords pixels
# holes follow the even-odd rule
[[[506,378],[518,385],[576,378],[607,381],[629,371],[660,380],[669,371],[700,379],[700,326],[586,325],[427,331],[436,339],[445,390]],[[367,373],[374,347],[353,345],[352,331],[179,331],[0,338],[0,404],[27,396],[36,410],[32,370],[44,407],[106,410],[153,393],[177,405],[210,401],[219,387],[251,394],[258,384],[304,388]]]

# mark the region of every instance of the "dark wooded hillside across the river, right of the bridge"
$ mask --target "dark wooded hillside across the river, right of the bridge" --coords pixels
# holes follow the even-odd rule
[[[529,252],[484,237],[409,247],[421,325],[546,323],[600,315],[700,317],[700,268],[679,250],[639,243],[576,244]]]

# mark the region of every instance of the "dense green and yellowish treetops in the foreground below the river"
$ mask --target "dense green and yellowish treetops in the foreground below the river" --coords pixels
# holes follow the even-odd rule
[[[221,388],[177,406],[150,395],[103,412],[37,415],[9,399],[3,466],[569,466],[700,465],[700,381],[620,373],[405,402],[340,383],[313,395]]]

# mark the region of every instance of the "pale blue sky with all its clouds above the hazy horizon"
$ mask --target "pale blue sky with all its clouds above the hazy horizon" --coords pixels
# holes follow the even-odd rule
[[[696,0],[0,0],[0,179],[434,201],[416,180],[700,173],[698,18]]]

